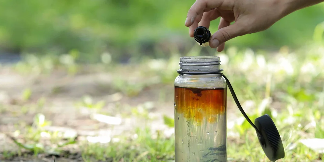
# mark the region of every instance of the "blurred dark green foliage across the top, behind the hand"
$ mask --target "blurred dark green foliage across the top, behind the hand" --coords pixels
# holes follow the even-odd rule
[[[80,51],[79,61],[99,61],[104,52],[121,61],[131,56],[169,56],[171,44],[188,50],[195,42],[184,21],[194,0],[0,1],[0,51],[62,54]],[[270,49],[313,39],[324,4],[292,13],[270,29],[227,44]],[[218,21],[211,24],[216,31]],[[320,30],[320,28],[317,28]],[[206,51],[203,51],[206,52]],[[111,58],[110,58],[111,59]],[[73,71],[73,69],[71,69]]]

